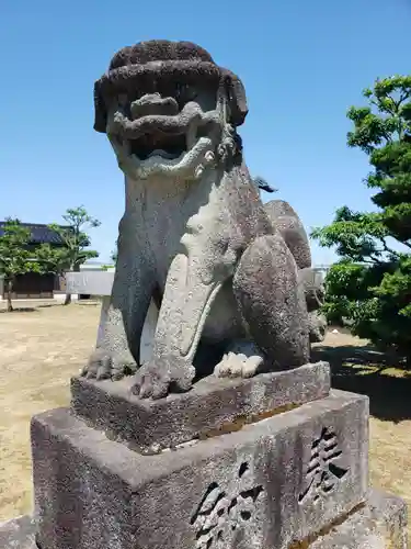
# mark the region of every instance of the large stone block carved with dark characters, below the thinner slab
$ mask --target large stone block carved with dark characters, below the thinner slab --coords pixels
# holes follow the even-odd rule
[[[158,456],[68,410],[42,414],[32,423],[38,545],[285,549],[365,501],[367,410],[366,397],[333,391]]]

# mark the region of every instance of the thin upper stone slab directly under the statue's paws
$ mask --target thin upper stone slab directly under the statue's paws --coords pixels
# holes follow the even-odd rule
[[[111,438],[132,442],[139,451],[168,448],[235,422],[252,419],[282,406],[304,404],[330,392],[327,362],[252,379],[210,376],[192,391],[147,401],[132,394],[133,379],[95,381],[73,378],[72,408]]]

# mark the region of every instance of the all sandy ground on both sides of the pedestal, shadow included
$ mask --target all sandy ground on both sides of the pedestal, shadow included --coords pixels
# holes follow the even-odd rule
[[[0,522],[32,509],[30,418],[68,404],[99,315],[85,303],[0,310]],[[411,377],[347,334],[329,333],[313,358],[331,362],[335,388],[369,395],[372,484],[411,504]]]

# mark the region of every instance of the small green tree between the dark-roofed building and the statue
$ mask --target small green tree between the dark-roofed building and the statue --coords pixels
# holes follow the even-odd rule
[[[100,221],[91,217],[83,206],[69,208],[62,215],[67,226],[56,223],[49,225],[61,238],[62,247],[43,244],[37,250],[37,258],[43,272],[62,274],[66,271],[79,271],[80,265],[88,259],[99,257],[99,253],[89,249],[91,228],[100,226]],[[70,303],[70,294],[66,295],[65,304]]]

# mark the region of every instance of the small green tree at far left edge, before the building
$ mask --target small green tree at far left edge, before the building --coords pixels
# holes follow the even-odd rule
[[[0,236],[0,272],[4,276],[8,311],[13,311],[11,295],[15,278],[39,272],[39,265],[30,248],[31,232],[19,220],[8,219]]]

